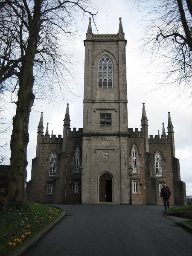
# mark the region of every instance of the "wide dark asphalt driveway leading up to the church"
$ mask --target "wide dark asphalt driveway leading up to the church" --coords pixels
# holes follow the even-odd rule
[[[58,205],[66,216],[24,256],[191,256],[192,234],[161,206]]]

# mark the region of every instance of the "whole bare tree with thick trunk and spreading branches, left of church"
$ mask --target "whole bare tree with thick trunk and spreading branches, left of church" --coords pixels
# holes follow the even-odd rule
[[[8,207],[29,207],[24,185],[34,84],[42,86],[44,80],[53,86],[56,80],[60,88],[64,85],[67,56],[58,38],[73,33],[76,16],[80,14],[89,14],[94,19],[96,14],[89,0],[0,2],[0,90],[17,92],[10,143]]]

